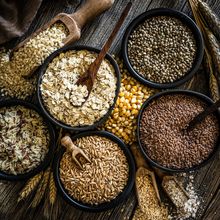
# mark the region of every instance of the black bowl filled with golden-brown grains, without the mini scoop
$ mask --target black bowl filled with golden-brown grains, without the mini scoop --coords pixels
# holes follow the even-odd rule
[[[125,143],[106,131],[87,131],[71,138],[90,162],[82,163],[81,169],[65,149],[57,154],[54,177],[63,198],[89,212],[111,209],[124,201],[135,179],[134,159]]]

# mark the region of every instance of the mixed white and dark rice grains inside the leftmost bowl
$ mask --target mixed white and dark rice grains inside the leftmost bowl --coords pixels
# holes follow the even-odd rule
[[[23,174],[36,168],[49,150],[49,132],[42,117],[23,106],[0,109],[0,170]]]

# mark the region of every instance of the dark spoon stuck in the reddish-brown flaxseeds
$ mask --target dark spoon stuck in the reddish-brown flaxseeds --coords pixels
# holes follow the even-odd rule
[[[211,106],[207,107],[204,111],[199,113],[195,118],[193,118],[192,121],[190,121],[187,130],[192,130],[197,124],[201,123],[206,118],[206,116],[215,112],[219,107],[220,99]]]

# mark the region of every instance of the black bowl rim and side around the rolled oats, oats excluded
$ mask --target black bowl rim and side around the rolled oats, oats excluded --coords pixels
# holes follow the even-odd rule
[[[65,124],[59,120],[57,120],[56,118],[54,118],[50,112],[47,110],[46,106],[44,105],[44,101],[43,98],[41,96],[41,90],[40,90],[40,85],[41,85],[41,81],[42,81],[42,77],[47,69],[47,66],[49,65],[49,63],[56,57],[58,56],[60,53],[66,52],[68,50],[88,50],[88,51],[92,51],[92,52],[96,52],[99,53],[100,50],[93,48],[93,47],[89,47],[89,46],[66,46],[64,48],[61,48],[57,51],[55,51],[54,53],[52,53],[44,62],[44,64],[42,65],[42,67],[40,68],[40,73],[39,73],[39,79],[38,79],[38,84],[37,84],[37,97],[38,97],[38,102],[41,106],[42,111],[44,112],[44,114],[48,117],[48,119],[54,123],[55,125],[68,129],[68,130],[72,130],[72,131],[86,131],[86,130],[92,130],[95,129],[96,127],[102,125],[110,116],[116,100],[118,98],[118,93],[120,90],[120,85],[121,85],[121,74],[119,71],[119,67],[117,65],[117,63],[115,62],[115,60],[112,58],[111,55],[107,54],[106,55],[106,59],[111,63],[111,65],[114,67],[115,69],[115,74],[116,74],[116,78],[117,78],[117,83],[116,83],[116,91],[115,91],[115,98],[114,98],[114,103],[111,105],[111,107],[109,108],[108,112],[99,120],[96,121],[94,124],[92,125],[86,125],[86,126],[76,126],[76,127],[72,127],[68,124]]]

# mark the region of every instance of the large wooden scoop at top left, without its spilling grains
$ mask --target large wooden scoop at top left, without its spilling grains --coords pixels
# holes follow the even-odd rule
[[[94,19],[96,16],[100,15],[101,13],[109,9],[113,3],[114,0],[86,0],[85,4],[83,4],[79,8],[79,10],[77,10],[73,14],[60,13],[56,15],[51,21],[49,21],[43,27],[39,28],[36,32],[34,32],[24,41],[19,43],[12,50],[12,56],[13,56],[13,51],[18,50],[31,38],[34,38],[40,32],[51,27],[53,24],[59,21],[65,24],[66,28],[69,30],[69,35],[63,42],[64,45],[68,45],[78,40],[81,36],[81,30],[83,26],[92,19]]]

